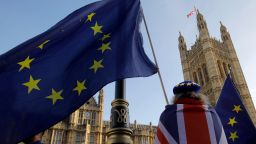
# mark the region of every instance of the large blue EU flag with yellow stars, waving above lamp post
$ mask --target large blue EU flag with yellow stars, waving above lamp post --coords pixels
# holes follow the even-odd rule
[[[68,117],[106,84],[157,72],[143,50],[139,0],[82,7],[0,56],[0,143]]]

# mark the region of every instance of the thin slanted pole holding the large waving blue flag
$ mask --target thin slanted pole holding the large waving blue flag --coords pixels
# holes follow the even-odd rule
[[[160,83],[161,83],[161,87],[162,87],[162,90],[163,90],[163,93],[164,93],[164,98],[165,98],[166,104],[168,105],[169,101],[168,101],[167,93],[166,93],[166,90],[165,90],[165,87],[164,87],[164,83],[163,83],[162,75],[161,75],[161,72],[160,72],[160,69],[159,69],[159,65],[158,65],[158,62],[157,62],[157,58],[156,58],[153,42],[152,42],[152,39],[151,39],[151,36],[150,36],[150,33],[149,33],[149,29],[148,29],[148,25],[147,25],[147,22],[146,22],[146,18],[145,18],[144,12],[143,12],[142,9],[141,9],[141,11],[142,11],[142,17],[143,17],[144,25],[146,27],[146,31],[147,31],[150,47],[151,47],[151,50],[152,50],[152,53],[153,53],[154,61],[155,61],[155,64],[156,64],[156,66],[158,68],[157,74],[158,74],[158,77],[159,77],[159,80],[160,80]]]

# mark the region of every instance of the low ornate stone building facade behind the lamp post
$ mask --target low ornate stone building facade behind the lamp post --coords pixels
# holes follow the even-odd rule
[[[103,121],[104,93],[99,92],[98,102],[91,98],[67,119],[45,131],[44,144],[106,144],[110,122]],[[153,144],[156,127],[130,124],[134,144]]]

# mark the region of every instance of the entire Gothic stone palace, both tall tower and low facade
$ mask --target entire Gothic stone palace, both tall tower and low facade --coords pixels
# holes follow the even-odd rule
[[[203,15],[197,12],[199,37],[191,49],[187,49],[184,37],[180,33],[179,51],[185,80],[193,80],[202,86],[202,93],[209,96],[215,105],[226,75],[231,68],[232,79],[238,88],[242,100],[256,124],[255,108],[247,87],[238,57],[227,28],[221,23],[221,41],[209,35]],[[46,130],[43,136],[45,144],[106,144],[110,122],[103,120],[104,92],[99,92],[98,101],[92,97],[88,102],[72,113],[69,118]],[[153,144],[156,126],[130,124],[134,144]]]

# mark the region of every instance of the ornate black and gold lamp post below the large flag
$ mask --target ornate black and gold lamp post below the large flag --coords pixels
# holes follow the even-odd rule
[[[125,97],[125,80],[116,81],[115,99],[111,105],[110,130],[108,144],[132,144],[130,129],[129,103]]]

